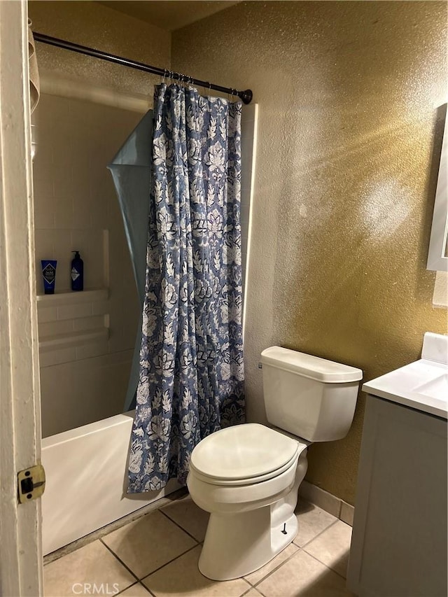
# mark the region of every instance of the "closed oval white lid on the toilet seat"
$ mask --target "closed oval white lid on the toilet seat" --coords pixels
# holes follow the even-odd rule
[[[292,437],[245,423],[205,437],[193,450],[190,466],[213,479],[251,479],[284,467],[298,448]]]

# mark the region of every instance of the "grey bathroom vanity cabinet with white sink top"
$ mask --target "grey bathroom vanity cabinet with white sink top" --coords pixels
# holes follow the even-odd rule
[[[367,393],[347,585],[358,596],[447,596],[448,337]]]

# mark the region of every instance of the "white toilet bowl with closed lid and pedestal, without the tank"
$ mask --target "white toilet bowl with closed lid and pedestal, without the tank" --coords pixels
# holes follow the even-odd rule
[[[206,437],[193,451],[187,485],[210,512],[201,573],[230,580],[258,570],[293,541],[297,489],[307,470],[307,442],[246,423]],[[229,447],[237,455],[225,461]]]

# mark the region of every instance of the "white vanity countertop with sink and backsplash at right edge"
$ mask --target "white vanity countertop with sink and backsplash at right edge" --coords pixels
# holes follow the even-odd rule
[[[421,356],[367,381],[363,391],[448,419],[448,336],[426,333]]]

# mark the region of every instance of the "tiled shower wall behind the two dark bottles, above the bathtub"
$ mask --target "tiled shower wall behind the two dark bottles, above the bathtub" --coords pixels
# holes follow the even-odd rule
[[[43,258],[57,259],[56,293],[71,292],[74,249],[84,261],[84,288],[109,288],[108,300],[78,303],[67,295],[67,302],[57,306],[39,304],[43,341],[67,330],[75,334],[68,339],[73,346],[45,344],[41,351],[43,429],[50,435],[123,407],[139,305],[123,218],[106,167],[141,114],[42,93],[33,116],[37,292],[43,294]],[[110,338],[83,340],[82,332],[95,330],[109,332]],[[110,365],[107,359],[115,354],[127,358]],[[55,408],[61,396],[63,404]]]

